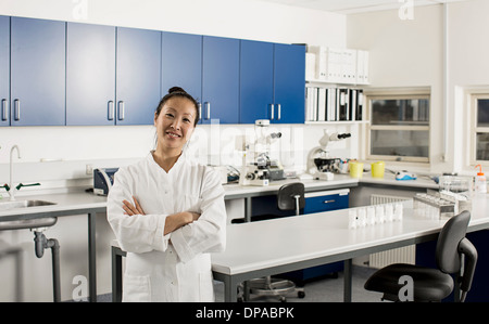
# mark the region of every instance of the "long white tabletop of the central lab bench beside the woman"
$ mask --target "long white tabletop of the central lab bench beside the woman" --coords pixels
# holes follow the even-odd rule
[[[212,255],[213,271],[239,274],[358,251],[437,233],[447,218],[429,219],[405,202],[403,220],[349,229],[349,209],[301,215],[227,228],[227,246]],[[473,199],[469,231],[489,226],[489,195]]]

